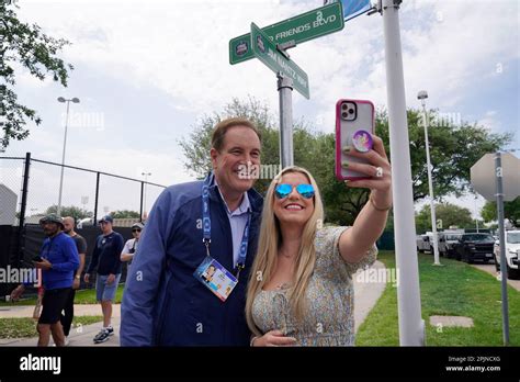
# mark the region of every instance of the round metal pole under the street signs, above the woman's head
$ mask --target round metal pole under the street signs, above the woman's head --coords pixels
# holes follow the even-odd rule
[[[276,75],[280,93],[280,161],[282,169],[294,165],[293,156],[293,79]]]

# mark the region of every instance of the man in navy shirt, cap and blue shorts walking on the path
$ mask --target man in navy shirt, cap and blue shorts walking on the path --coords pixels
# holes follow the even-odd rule
[[[114,334],[112,327],[112,302],[115,299],[117,285],[121,279],[121,250],[124,246],[123,236],[112,229],[113,218],[110,215],[103,216],[100,221],[102,234],[95,239],[92,258],[84,282],[90,282],[90,274],[97,269],[95,296],[101,303],[103,312],[103,327],[93,338],[95,344],[104,342]]]

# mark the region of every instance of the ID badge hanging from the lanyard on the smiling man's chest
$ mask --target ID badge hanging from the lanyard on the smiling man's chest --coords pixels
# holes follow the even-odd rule
[[[238,283],[238,280],[231,272],[210,256],[201,262],[193,276],[221,299],[222,302],[226,301]]]

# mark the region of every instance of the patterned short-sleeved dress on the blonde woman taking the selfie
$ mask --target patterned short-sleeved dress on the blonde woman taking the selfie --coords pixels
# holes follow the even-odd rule
[[[339,237],[349,227],[324,227],[316,234],[316,265],[306,291],[307,310],[301,324],[290,312],[289,289],[260,291],[252,304],[255,324],[262,333],[282,330],[296,346],[352,346],[354,291],[352,274],[370,267],[375,245],[357,263],[339,254]]]

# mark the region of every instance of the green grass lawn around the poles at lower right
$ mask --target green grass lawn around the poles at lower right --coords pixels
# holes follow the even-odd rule
[[[387,268],[395,267],[393,251],[380,251]],[[500,282],[465,262],[441,258],[432,266],[431,255],[419,255],[421,312],[428,346],[502,346]],[[510,345],[520,346],[520,292],[508,285]],[[436,327],[432,315],[466,316],[474,327]],[[397,288],[386,285],[381,299],[361,325],[358,346],[399,346]]]

